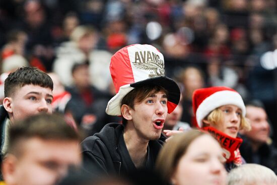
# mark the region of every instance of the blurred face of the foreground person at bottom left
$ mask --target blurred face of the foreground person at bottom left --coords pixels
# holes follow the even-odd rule
[[[51,185],[62,178],[69,166],[81,164],[78,141],[31,138],[24,142],[23,153],[17,157],[7,184]]]

